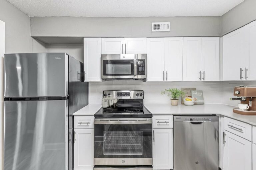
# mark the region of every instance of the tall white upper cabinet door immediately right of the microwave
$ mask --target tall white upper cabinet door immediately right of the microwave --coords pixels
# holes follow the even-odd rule
[[[164,81],[164,38],[147,38],[147,81]]]

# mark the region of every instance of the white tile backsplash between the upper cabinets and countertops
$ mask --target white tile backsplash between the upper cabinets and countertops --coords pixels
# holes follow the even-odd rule
[[[241,82],[143,82],[143,81],[103,81],[89,83],[89,103],[101,104],[103,90],[144,90],[144,103],[147,104],[169,104],[170,98],[160,95],[165,88],[195,87],[203,90],[206,104],[223,103],[237,106],[239,101],[230,101],[233,96],[235,86],[256,85],[256,81]],[[181,101],[179,100],[179,103]]]

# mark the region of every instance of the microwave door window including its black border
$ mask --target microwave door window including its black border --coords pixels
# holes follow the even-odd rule
[[[134,75],[134,60],[103,60],[103,75]]]

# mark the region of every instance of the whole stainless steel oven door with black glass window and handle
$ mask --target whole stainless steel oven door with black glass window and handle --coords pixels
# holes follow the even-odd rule
[[[94,165],[152,165],[152,119],[95,119]]]

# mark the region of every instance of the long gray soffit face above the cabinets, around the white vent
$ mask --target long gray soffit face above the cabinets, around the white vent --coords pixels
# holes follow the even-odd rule
[[[220,17],[31,17],[31,36],[220,36]],[[151,22],[170,22],[170,32],[151,32]]]

